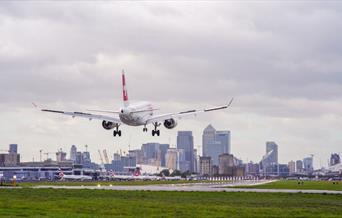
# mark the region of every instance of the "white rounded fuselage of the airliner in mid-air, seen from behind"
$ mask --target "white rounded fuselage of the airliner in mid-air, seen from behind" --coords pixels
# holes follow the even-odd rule
[[[153,107],[149,102],[139,102],[120,109],[120,120],[126,125],[146,125],[149,118],[153,116]]]

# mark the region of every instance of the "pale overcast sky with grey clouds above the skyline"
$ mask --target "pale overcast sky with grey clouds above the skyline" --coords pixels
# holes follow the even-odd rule
[[[0,149],[17,143],[31,161],[41,149],[87,144],[99,161],[98,149],[175,146],[177,131],[191,130],[201,154],[212,124],[231,131],[231,151],[245,162],[275,141],[281,163],[313,154],[315,167],[326,166],[342,152],[341,12],[338,1],[1,2]],[[114,138],[101,121],[32,107],[117,110],[122,69],[130,100],[151,101],[157,113],[235,100],[160,137],[122,126]]]

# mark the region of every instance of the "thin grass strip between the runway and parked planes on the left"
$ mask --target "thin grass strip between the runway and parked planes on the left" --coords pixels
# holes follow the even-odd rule
[[[85,182],[20,182],[17,183],[17,186],[21,187],[32,187],[32,186],[40,186],[40,185],[56,185],[56,186],[97,186],[100,184],[101,186],[109,186],[109,185],[156,185],[156,184],[188,184],[188,183],[198,183],[198,182],[209,182],[209,181],[186,181],[186,180],[160,180],[160,181],[85,181]]]

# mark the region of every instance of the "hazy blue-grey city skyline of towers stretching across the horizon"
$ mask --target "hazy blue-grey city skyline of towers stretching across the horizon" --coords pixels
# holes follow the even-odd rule
[[[223,136],[222,134],[224,134],[225,136]],[[228,135],[227,135],[228,134]],[[178,164],[178,168],[181,169],[182,171],[193,171],[195,168],[192,169],[192,167],[197,166],[198,161],[200,161],[200,158],[210,158],[211,160],[211,164],[214,166],[218,166],[218,160],[217,162],[215,162],[215,159],[219,159],[220,155],[223,154],[229,154],[227,153],[228,150],[230,150],[230,131],[226,131],[226,130],[222,130],[222,131],[216,131],[213,126],[211,124],[209,124],[204,130],[203,130],[203,135],[202,135],[202,140],[203,140],[203,144],[202,147],[204,147],[204,145],[207,143],[207,145],[211,145],[212,143],[216,144],[218,143],[217,141],[215,142],[215,140],[217,140],[217,136],[219,136],[220,138],[218,138],[219,140],[224,139],[225,137],[228,136],[228,141],[227,140],[223,140],[224,142],[228,142],[228,144],[226,144],[227,148],[226,149],[220,149],[222,150],[221,152],[217,152],[216,150],[214,150],[214,152],[211,152],[211,154],[197,154],[197,149],[193,147],[193,136],[192,136],[192,131],[178,131],[177,134],[177,145],[176,146],[170,146],[170,144],[161,144],[161,143],[157,143],[157,142],[147,142],[141,145],[141,147],[139,148],[133,148],[133,149],[129,149],[129,150],[117,150],[115,152],[111,152],[109,151],[109,159],[107,157],[107,149],[103,149],[103,154],[105,156],[102,156],[102,153],[100,150],[98,150],[98,152],[100,153],[98,155],[99,160],[97,160],[98,158],[96,158],[96,154],[94,156],[92,156],[93,159],[97,160],[95,161],[95,163],[98,164],[103,164],[103,163],[109,163],[111,160],[115,160],[116,159],[116,155],[119,156],[123,156],[123,157],[131,157],[132,155],[134,157],[137,157],[137,163],[139,162],[138,160],[141,160],[142,162],[144,162],[144,164],[150,164],[150,165],[154,165],[154,166],[165,166],[167,160],[165,157],[165,154],[167,153],[167,151],[170,149],[170,151],[173,150],[179,150],[182,153],[182,158],[181,158],[181,162],[177,163]],[[222,138],[223,136],[223,138]],[[224,145],[224,144],[222,144]],[[2,149],[2,151],[7,151],[8,153],[17,153],[18,152],[18,144],[9,144],[9,150],[5,150]],[[82,149],[80,149],[81,151],[78,152],[79,150],[77,150],[77,146],[76,145],[71,145],[70,147],[70,153],[67,153],[66,150],[63,151],[62,148],[57,149],[56,151],[56,161],[59,162],[61,160],[71,160],[74,163],[79,163],[81,162],[80,158],[78,157],[79,155],[81,156],[85,156],[85,159],[90,160],[91,158],[91,152],[88,151],[88,145],[84,145],[85,151],[82,151]],[[130,148],[130,147],[129,147]],[[190,150],[189,150],[190,149]],[[1,149],[0,149],[1,150]],[[138,153],[140,153],[138,155]],[[161,152],[161,153],[160,153]],[[190,152],[190,153],[189,153]],[[20,152],[18,152],[20,153]],[[42,155],[47,155],[46,158],[42,158]],[[39,160],[35,160],[32,159],[33,162],[39,162],[42,160],[54,160],[54,158],[51,158],[51,156],[49,157],[49,154],[54,154],[54,152],[48,152],[48,153],[43,153],[43,150],[40,150],[40,158]],[[192,160],[189,159],[189,154],[192,154],[190,156],[193,157]],[[196,155],[197,154],[197,155]],[[142,156],[141,156],[142,155]],[[233,155],[233,154],[232,154]],[[132,156],[132,157],[133,157]],[[138,157],[139,156],[139,157]],[[189,156],[189,157],[187,157]],[[103,159],[103,157],[107,158],[106,160]],[[302,159],[293,161],[293,159],[288,160],[287,164],[286,163],[281,163],[278,162],[279,159],[279,154],[278,154],[278,144],[276,144],[273,141],[266,141],[266,153],[265,155],[262,156],[262,158],[260,159],[260,161],[258,160],[249,160],[249,161],[243,161],[242,159],[239,159],[238,156],[235,156],[235,160],[236,161],[241,161],[241,164],[250,164],[250,163],[254,163],[254,164],[259,164],[260,163],[260,169],[263,170],[263,173],[265,174],[265,172],[267,172],[266,174],[269,173],[279,173],[279,166],[284,166],[284,165],[288,165],[290,172],[291,169],[295,169],[296,172],[301,172],[300,169],[304,169],[304,172],[312,172],[313,168],[314,168],[314,162],[313,161],[313,157],[314,155],[311,154],[310,156],[304,156],[302,157]],[[142,158],[142,159],[141,159]],[[81,158],[84,159],[84,158]],[[105,161],[104,161],[105,160]],[[330,167],[332,165],[335,165],[336,163],[340,163],[340,159],[339,159],[339,153],[333,153],[331,152],[331,156],[330,159],[328,158],[328,164],[326,166]],[[22,159],[22,161],[26,162],[28,160],[24,160]],[[31,160],[30,160],[31,161]],[[30,162],[29,161],[29,162]],[[141,163],[142,163],[141,162]],[[298,164],[298,162],[301,162]],[[317,160],[316,160],[317,162]],[[90,163],[90,161],[89,161]],[[290,167],[290,165],[293,164],[292,167]],[[321,165],[319,168],[316,167],[316,169],[321,169],[322,167],[326,167]],[[270,167],[270,168],[269,168]],[[298,169],[299,167],[299,169]],[[198,168],[198,166],[196,167],[196,170],[200,170]],[[266,170],[266,171],[265,171]],[[309,171],[307,171],[309,170]],[[294,170],[292,170],[294,171]]]

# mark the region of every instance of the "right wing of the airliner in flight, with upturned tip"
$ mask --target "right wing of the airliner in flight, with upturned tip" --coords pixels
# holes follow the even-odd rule
[[[168,119],[175,119],[175,120],[180,120],[183,117],[188,117],[188,116],[196,116],[199,113],[205,113],[205,112],[211,112],[211,111],[216,111],[216,110],[222,110],[230,107],[230,105],[233,102],[233,98],[229,101],[228,104],[223,105],[223,106],[218,106],[218,107],[213,107],[213,108],[206,108],[206,109],[198,109],[198,110],[188,110],[188,111],[182,111],[178,113],[169,113],[169,114],[161,114],[161,115],[156,115],[153,116],[152,118],[147,120],[147,124],[149,123],[155,123],[155,122],[162,122],[164,120]]]

